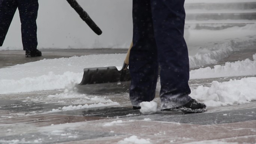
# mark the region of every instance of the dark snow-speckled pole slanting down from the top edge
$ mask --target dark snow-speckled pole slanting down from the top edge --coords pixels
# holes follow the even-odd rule
[[[94,31],[94,33],[101,35],[102,31],[100,28],[95,24],[94,21],[90,18],[87,12],[83,10],[83,8],[77,3],[76,0],[67,0],[71,7],[78,13],[80,18],[86,22],[86,24]]]

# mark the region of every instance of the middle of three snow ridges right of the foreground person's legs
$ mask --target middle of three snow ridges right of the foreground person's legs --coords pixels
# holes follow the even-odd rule
[[[253,61],[226,62],[225,65],[215,65],[214,68],[199,68],[190,71],[190,79],[206,79],[214,77],[249,76],[256,75],[256,54]]]

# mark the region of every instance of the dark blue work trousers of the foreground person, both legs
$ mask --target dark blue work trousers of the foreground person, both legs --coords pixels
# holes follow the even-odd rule
[[[133,0],[133,47],[129,56],[133,106],[155,98],[160,66],[161,107],[191,100],[188,48],[183,37],[185,0]]]

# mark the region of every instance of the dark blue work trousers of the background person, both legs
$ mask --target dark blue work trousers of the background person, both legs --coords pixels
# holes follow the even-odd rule
[[[0,46],[3,45],[17,7],[21,20],[23,49],[36,49],[38,0],[0,0]]]

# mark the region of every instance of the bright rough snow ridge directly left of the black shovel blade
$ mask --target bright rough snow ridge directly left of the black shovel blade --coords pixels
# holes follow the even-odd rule
[[[25,77],[19,80],[0,80],[0,94],[47,91],[52,89],[63,89],[70,83],[81,80],[82,73],[64,72],[62,75],[49,72],[39,77]]]

